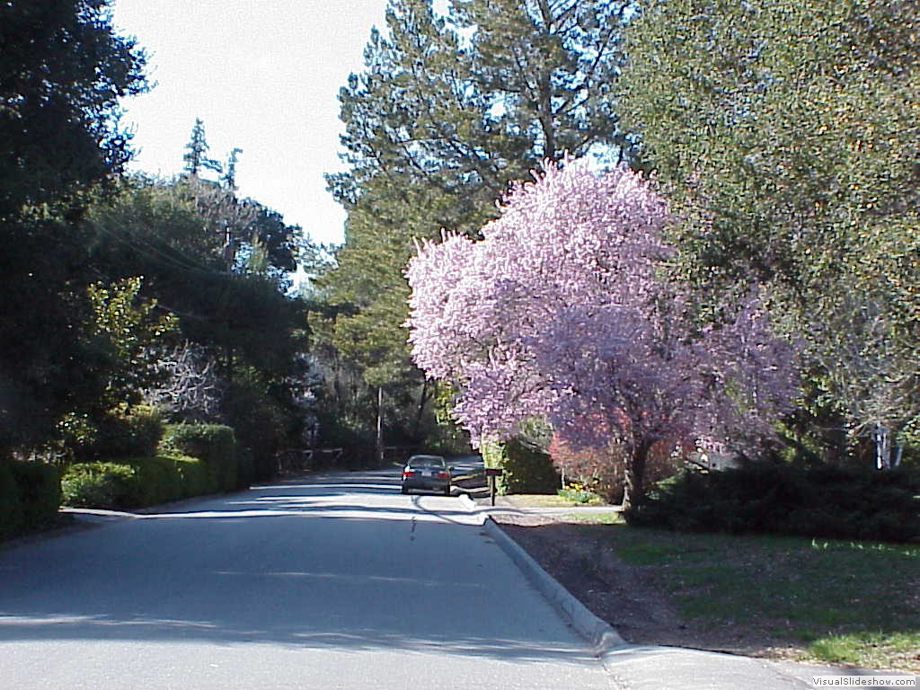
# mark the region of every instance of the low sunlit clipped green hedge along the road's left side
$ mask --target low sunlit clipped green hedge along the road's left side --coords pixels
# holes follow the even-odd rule
[[[76,463],[61,486],[67,505],[129,510],[212,493],[216,479],[200,458],[159,455]]]

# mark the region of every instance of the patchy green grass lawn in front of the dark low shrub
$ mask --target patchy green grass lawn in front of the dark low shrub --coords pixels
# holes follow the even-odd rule
[[[604,517],[609,526],[581,528],[603,529],[688,623],[796,640],[802,660],[920,672],[920,546],[686,534]]]

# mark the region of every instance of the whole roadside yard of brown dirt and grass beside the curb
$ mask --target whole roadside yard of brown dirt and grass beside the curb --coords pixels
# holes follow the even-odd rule
[[[564,520],[506,529],[594,613],[635,606],[620,627],[630,641],[920,672],[918,546]],[[630,581],[604,609],[600,583]],[[673,617],[656,627],[662,605]]]

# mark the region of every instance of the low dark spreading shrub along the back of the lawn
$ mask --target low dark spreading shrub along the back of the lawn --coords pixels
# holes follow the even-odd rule
[[[661,482],[627,522],[689,532],[920,540],[920,475],[844,466],[749,463]]]

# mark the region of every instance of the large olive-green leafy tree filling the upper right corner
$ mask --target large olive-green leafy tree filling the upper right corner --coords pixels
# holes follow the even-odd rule
[[[652,0],[627,39],[620,108],[673,200],[681,275],[710,304],[760,283],[804,340],[811,423],[851,438],[920,414],[918,17]]]

